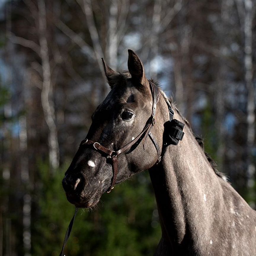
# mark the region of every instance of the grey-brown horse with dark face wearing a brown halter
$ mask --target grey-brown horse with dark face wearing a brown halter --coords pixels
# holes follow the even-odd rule
[[[154,255],[255,256],[256,211],[216,170],[173,100],[146,78],[138,55],[128,53],[128,71],[102,59],[111,91],[65,172],[68,201],[93,207],[115,184],[148,170],[162,231]]]

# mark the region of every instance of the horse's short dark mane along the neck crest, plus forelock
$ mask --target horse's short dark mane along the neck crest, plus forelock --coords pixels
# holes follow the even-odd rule
[[[113,75],[112,79],[115,81],[115,83],[117,84],[118,82],[120,81],[124,81],[126,79],[129,79],[131,78],[131,75],[129,73],[129,71],[122,71],[122,72],[119,72],[118,74],[115,74]],[[227,181],[227,177],[222,173],[222,172],[219,172],[217,170],[217,164],[216,162],[212,159],[212,157],[204,151],[204,141],[201,137],[195,135],[191,129],[191,126],[190,126],[190,123],[188,122],[188,120],[180,113],[180,111],[177,109],[176,107],[176,103],[174,102],[173,98],[172,97],[167,97],[166,94],[164,93],[164,91],[161,89],[161,85],[158,81],[154,81],[153,79],[150,79],[150,81],[152,83],[154,83],[157,87],[159,87],[160,89],[160,92],[162,94],[162,96],[168,100],[168,102],[170,103],[170,105],[172,106],[172,108],[175,109],[175,111],[177,111],[177,113],[182,117],[183,121],[185,122],[185,124],[188,126],[188,128],[190,129],[191,133],[193,134],[193,136],[195,137],[197,143],[199,144],[199,146],[201,147],[202,151],[204,152],[209,164],[211,165],[212,169],[214,170],[215,174],[219,177],[221,177],[223,180]]]

